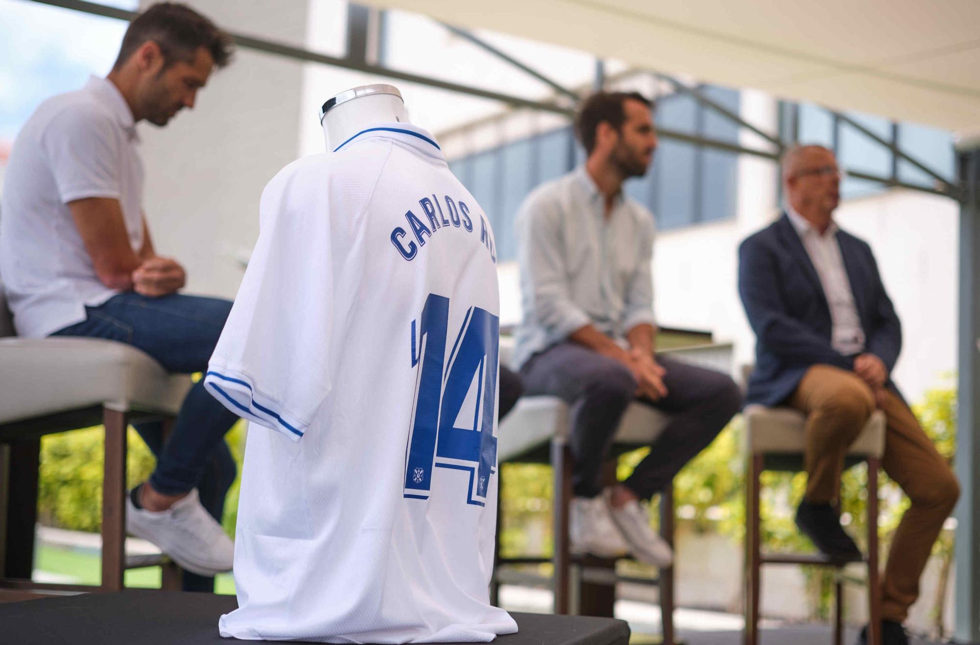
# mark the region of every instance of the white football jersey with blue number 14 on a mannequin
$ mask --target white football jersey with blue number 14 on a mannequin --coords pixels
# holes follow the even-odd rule
[[[499,294],[432,137],[369,128],[266,186],[205,385],[249,420],[222,636],[485,642]],[[270,431],[274,430],[274,431]]]

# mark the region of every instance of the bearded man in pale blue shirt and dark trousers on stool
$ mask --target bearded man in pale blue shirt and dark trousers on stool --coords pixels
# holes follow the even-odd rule
[[[575,458],[572,547],[613,557],[631,551],[667,566],[673,554],[650,527],[649,499],[701,452],[741,405],[730,377],[656,355],[651,259],[654,217],[622,193],[657,148],[651,103],[598,92],[576,131],[585,164],[543,184],[517,215],[524,318],[515,364],[528,394],[563,398]],[[634,400],[671,421],[632,475],[603,488],[613,434]]]

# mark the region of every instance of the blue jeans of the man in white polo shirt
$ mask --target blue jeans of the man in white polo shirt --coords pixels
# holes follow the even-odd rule
[[[149,298],[126,292],[85,310],[85,321],[52,335],[118,340],[143,350],[168,372],[192,373],[207,369],[231,303],[181,294]],[[161,423],[136,424],[136,431],[157,457],[150,485],[165,495],[197,488],[201,504],[221,521],[224,497],[236,470],[223,438],[236,421],[238,417],[204,389],[202,380],[187,393],[166,445]],[[214,578],[184,573],[184,590],[213,587]]]

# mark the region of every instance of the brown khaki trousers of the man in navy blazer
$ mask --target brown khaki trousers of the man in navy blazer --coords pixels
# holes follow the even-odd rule
[[[854,372],[815,365],[788,403],[807,415],[805,497],[815,504],[837,499],[848,447],[875,408],[885,413],[882,468],[902,487],[911,506],[895,531],[882,576],[882,618],[903,622],[918,598],[919,577],[932,545],[959,497],[956,475],[905,401],[890,389],[876,396]]]

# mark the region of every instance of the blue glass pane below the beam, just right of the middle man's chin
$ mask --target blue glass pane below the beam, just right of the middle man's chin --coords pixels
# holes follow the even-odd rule
[[[657,151],[657,223],[661,228],[695,221],[694,173],[697,149],[681,141],[661,141]]]

